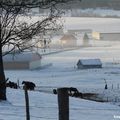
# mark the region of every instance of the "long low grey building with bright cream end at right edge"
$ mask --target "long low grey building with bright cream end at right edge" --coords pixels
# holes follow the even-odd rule
[[[120,41],[120,33],[119,32],[93,32],[92,37],[96,40],[104,40],[104,41]]]

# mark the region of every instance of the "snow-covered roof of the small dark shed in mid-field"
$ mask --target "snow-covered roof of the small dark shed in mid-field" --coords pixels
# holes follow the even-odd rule
[[[82,65],[101,65],[100,59],[80,59]]]

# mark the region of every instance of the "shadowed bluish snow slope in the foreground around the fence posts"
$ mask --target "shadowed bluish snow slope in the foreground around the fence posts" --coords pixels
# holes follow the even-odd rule
[[[8,90],[8,102],[0,102],[0,120],[25,120],[24,93]],[[58,120],[57,97],[30,92],[31,120]],[[118,106],[70,98],[70,120],[113,120],[119,116]]]

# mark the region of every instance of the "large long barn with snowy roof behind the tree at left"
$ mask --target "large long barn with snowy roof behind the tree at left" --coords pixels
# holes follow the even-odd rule
[[[3,64],[6,70],[32,70],[40,68],[41,59],[41,55],[32,52],[8,54],[3,57]]]

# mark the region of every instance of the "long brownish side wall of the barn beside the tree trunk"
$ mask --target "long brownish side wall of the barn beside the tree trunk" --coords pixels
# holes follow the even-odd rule
[[[22,70],[22,69],[29,69],[28,62],[4,62],[4,68],[6,70]]]

